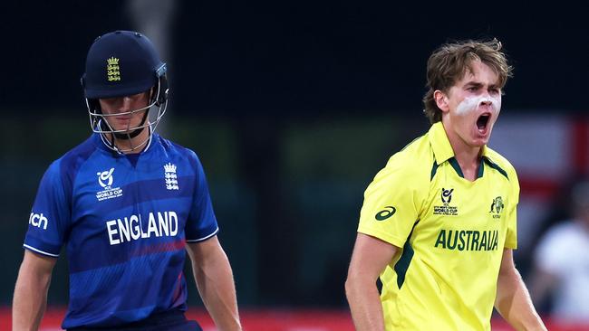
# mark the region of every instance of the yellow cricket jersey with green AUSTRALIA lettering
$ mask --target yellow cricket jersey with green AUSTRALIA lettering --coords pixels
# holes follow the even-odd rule
[[[518,196],[515,169],[488,147],[477,180],[465,179],[441,122],[391,156],[358,227],[401,248],[381,274],[387,330],[490,330]]]

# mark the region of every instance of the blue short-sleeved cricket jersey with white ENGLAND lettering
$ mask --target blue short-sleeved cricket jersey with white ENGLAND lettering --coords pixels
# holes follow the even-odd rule
[[[119,155],[93,134],[43,175],[24,248],[58,257],[66,245],[63,328],[116,326],[186,310],[186,242],[217,232],[193,151],[154,134],[139,155]]]

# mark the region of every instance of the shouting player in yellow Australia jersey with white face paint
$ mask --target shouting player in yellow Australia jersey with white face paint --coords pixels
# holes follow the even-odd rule
[[[516,171],[487,147],[510,76],[497,40],[431,54],[432,126],[364,193],[345,284],[357,330],[490,330],[493,307],[517,330],[546,330],[513,261]]]

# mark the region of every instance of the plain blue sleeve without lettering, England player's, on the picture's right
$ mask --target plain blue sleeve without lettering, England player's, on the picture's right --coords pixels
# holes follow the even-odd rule
[[[192,206],[186,224],[186,241],[204,241],[218,232],[217,218],[213,211],[213,203],[208,193],[207,177],[198,160],[198,156],[190,151],[190,163],[195,171],[195,189]]]

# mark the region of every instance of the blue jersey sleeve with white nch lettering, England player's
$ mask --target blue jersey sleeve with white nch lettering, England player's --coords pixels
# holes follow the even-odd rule
[[[64,194],[60,162],[49,166],[43,178],[24,237],[24,248],[46,256],[58,257],[70,223],[69,200]]]

